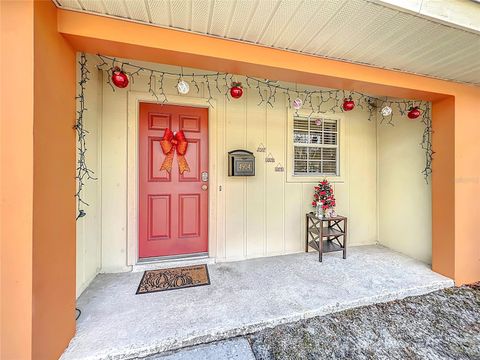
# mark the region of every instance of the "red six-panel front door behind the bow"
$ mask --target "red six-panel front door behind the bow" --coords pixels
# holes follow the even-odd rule
[[[182,130],[190,171],[180,174],[175,151],[170,173],[160,141]],[[208,251],[208,110],[140,103],[139,256]]]

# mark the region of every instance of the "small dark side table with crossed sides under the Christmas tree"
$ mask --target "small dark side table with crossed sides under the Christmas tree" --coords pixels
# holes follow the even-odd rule
[[[347,258],[347,218],[336,216],[319,219],[314,213],[308,213],[306,219],[305,252],[308,247],[318,251],[318,261],[322,261],[323,253],[343,251]]]

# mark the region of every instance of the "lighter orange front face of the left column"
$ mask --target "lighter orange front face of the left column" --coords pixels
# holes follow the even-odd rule
[[[0,12],[0,358],[23,360],[32,351],[33,3],[2,1]]]

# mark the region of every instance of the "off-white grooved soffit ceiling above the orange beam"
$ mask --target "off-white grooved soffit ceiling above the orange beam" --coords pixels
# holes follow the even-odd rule
[[[54,1],[65,9],[480,85],[480,34],[368,0]]]

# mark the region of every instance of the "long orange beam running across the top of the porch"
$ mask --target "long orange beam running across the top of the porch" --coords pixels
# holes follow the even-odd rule
[[[440,84],[451,83],[436,79],[69,10],[58,10],[58,31],[75,49],[93,54],[378,96],[436,101],[454,95]]]

